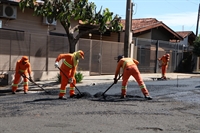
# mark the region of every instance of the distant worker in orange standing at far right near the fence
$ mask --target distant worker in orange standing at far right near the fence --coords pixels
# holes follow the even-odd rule
[[[167,71],[167,67],[168,67],[168,64],[169,64],[169,58],[170,58],[170,55],[169,54],[165,54],[163,55],[161,58],[158,58],[159,61],[161,61],[161,70],[162,70],[162,77],[161,79],[164,79],[166,80],[166,71]]]

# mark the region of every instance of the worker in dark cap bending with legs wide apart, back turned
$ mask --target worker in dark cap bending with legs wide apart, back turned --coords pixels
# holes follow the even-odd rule
[[[140,75],[137,65],[139,62],[133,58],[124,58],[123,56],[118,56],[118,64],[115,71],[114,83],[117,83],[117,76],[120,72],[120,68],[123,69],[123,81],[122,81],[122,88],[121,88],[121,98],[126,98],[127,92],[127,84],[128,79],[130,76],[133,76],[137,81],[144,97],[148,100],[151,100],[152,97],[149,95],[149,92],[143,82],[143,79]]]

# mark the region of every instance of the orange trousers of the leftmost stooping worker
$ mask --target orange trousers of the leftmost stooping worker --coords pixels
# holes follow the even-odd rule
[[[24,73],[24,74],[27,77],[28,74],[26,74],[26,73]],[[17,91],[20,79],[21,79],[21,75],[19,73],[15,73],[15,79],[14,79],[13,85],[12,85],[12,91],[13,92]],[[23,81],[24,81],[24,92],[27,92],[28,91],[28,79],[27,78],[23,78]]]

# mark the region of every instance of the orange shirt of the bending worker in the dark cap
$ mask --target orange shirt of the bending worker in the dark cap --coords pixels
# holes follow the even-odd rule
[[[139,61],[137,61],[134,58],[122,58],[118,64],[117,64],[117,68],[115,71],[115,78],[117,78],[119,72],[120,72],[120,68],[122,68],[123,70],[130,65],[138,65]]]

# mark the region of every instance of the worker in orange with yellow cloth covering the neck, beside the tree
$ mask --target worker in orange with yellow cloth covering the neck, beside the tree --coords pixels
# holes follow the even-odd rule
[[[61,59],[64,59],[60,69],[60,76],[61,76],[61,86],[60,86],[60,93],[59,93],[59,99],[66,99],[64,95],[66,94],[66,86],[68,83],[70,83],[70,91],[69,95],[70,97],[74,97],[75,95],[75,85],[76,85],[76,79],[75,79],[75,73],[76,68],[78,66],[79,59],[84,59],[84,52],[82,50],[79,50],[74,53],[68,53],[68,54],[60,54],[58,55],[56,61],[55,61],[55,67],[59,67],[59,61]],[[64,74],[64,73],[65,74]]]

